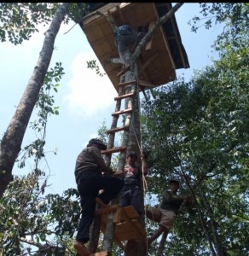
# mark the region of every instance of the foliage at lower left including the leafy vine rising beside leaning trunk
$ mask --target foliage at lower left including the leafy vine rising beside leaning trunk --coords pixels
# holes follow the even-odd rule
[[[59,108],[54,107],[53,92],[58,91],[63,74],[61,63],[56,63],[46,73],[35,106],[38,120],[31,122],[31,128],[38,138],[24,147],[20,160],[17,160],[19,167],[23,168],[26,161],[33,158],[33,171],[26,177],[14,177],[0,202],[0,248],[3,255],[32,253],[35,247],[36,250],[54,252],[55,255],[56,252],[60,255],[62,251],[73,254],[72,236],[80,214],[78,191],[68,189],[62,196],[44,196],[49,177],[45,177],[45,172],[38,167],[45,159],[48,118],[51,114],[59,114]]]

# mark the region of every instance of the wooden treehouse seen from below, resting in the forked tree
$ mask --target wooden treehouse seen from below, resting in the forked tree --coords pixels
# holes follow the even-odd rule
[[[92,49],[95,51],[101,66],[119,91],[119,76],[122,64],[108,63],[110,58],[119,58],[109,21],[97,15],[112,16],[115,24],[121,26],[130,24],[136,30],[139,26],[153,26],[159,17],[165,15],[171,8],[171,3],[89,3],[90,15],[80,24]],[[142,49],[140,58],[140,77],[153,87],[167,84],[176,79],[176,69],[188,68],[188,55],[182,45],[181,36],[175,15],[159,26],[150,42]]]

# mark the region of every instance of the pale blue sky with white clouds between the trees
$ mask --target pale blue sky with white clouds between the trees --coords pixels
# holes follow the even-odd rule
[[[212,59],[217,58],[211,44],[221,32],[221,27],[215,26],[208,31],[202,27],[197,33],[191,32],[188,20],[199,15],[199,12],[198,3],[184,3],[176,13],[177,26],[190,65],[188,69],[178,69],[177,77],[183,76],[187,80],[194,70],[205,68]],[[21,45],[1,43],[0,138],[14,115],[38,61],[46,27],[39,30]],[[62,195],[66,189],[76,189],[74,166],[78,154],[90,138],[96,137],[103,122],[107,129],[111,127],[117,92],[107,76],[101,78],[87,68],[86,61],[92,59],[96,59],[96,55],[81,28],[73,26],[73,23],[61,26],[49,66],[54,67],[55,62],[61,62],[66,73],[55,94],[55,106],[60,107],[60,115],[49,117],[44,148],[46,161],[40,166],[49,175],[47,193]],[[34,119],[37,117],[32,114],[30,121]],[[34,140],[34,131],[27,129],[22,148]],[[25,175],[32,167],[32,162],[23,169],[15,165],[13,174]]]

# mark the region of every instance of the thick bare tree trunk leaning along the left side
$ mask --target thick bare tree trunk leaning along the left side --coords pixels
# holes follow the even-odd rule
[[[38,62],[26,90],[20,99],[13,118],[4,133],[0,143],[0,197],[13,179],[12,169],[14,161],[20,153],[20,147],[25,135],[26,126],[32,115],[32,110],[38,100],[39,91],[43,86],[43,80],[53,54],[56,35],[60,29],[61,22],[67,15],[70,3],[63,3],[56,10],[55,17],[45,33],[43,49],[40,52]]]

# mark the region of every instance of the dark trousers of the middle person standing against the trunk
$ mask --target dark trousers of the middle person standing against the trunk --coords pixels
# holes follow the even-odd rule
[[[120,207],[132,206],[140,215],[144,214],[142,204],[142,190],[139,186],[125,185],[119,195]]]

